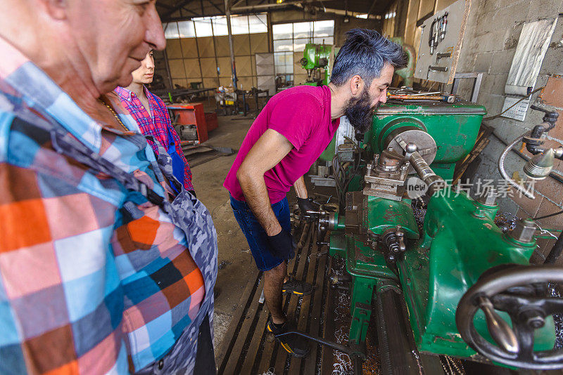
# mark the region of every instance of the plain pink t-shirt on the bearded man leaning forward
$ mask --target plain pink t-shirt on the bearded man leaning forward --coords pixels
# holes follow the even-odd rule
[[[287,138],[293,148],[284,159],[264,174],[264,180],[274,204],[284,199],[293,183],[309,170],[332,140],[340,119],[331,121],[330,88],[328,86],[296,86],[274,95],[248,130],[233,166],[223,186],[232,197],[244,201],[236,179],[246,154],[258,138],[272,129]]]

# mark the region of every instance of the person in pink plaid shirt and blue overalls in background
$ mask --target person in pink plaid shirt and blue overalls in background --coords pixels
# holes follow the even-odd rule
[[[141,61],[141,67],[132,73],[133,81],[127,87],[117,87],[115,92],[123,107],[129,111],[146,136],[148,144],[158,155],[158,143],[172,159],[172,174],[184,185],[186,190],[196,195],[191,183],[191,171],[184,156],[180,138],[170,123],[170,116],[163,100],[146,89],[154,76],[153,51],[149,51]]]

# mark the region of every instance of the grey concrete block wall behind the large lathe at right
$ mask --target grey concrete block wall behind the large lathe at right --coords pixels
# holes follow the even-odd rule
[[[477,103],[485,105],[488,115],[498,114],[502,110],[505,100],[504,88],[512,58],[516,51],[521,29],[525,22],[532,22],[543,18],[556,18],[563,12],[562,0],[474,0],[469,16],[467,29],[463,41],[457,72],[483,72],[483,82],[479,91]],[[550,81],[551,87],[558,76],[563,75],[563,18],[559,17],[555,32],[550,41],[548,52],[540,69],[536,88],[545,86]],[[559,88],[563,88],[560,85]],[[462,81],[458,93],[469,98],[472,82]],[[538,92],[532,96],[531,103],[558,110],[561,114],[556,128],[550,131],[546,145],[557,146],[563,143],[563,92],[552,95],[554,99],[543,100],[540,96],[547,93]],[[495,134],[505,142],[512,142],[515,138],[542,121],[543,113],[528,110],[525,121],[517,121],[498,117],[484,124],[492,126]],[[497,162],[505,145],[498,138],[491,136],[491,142],[481,153],[481,164],[473,177],[473,182],[481,179],[499,180]],[[520,148],[518,145],[517,148]],[[524,150],[524,154],[529,154]],[[509,175],[521,171],[524,166],[521,159],[511,152],[506,160]],[[554,169],[563,171],[563,162],[556,160]],[[535,184],[536,199],[519,197],[514,193],[500,199],[500,211],[505,211],[519,217],[539,217],[563,211],[563,184],[553,178],[546,178]],[[554,230],[563,229],[563,214],[538,221],[543,228]],[[557,232],[554,232],[557,235]],[[541,239],[538,242],[539,253],[533,261],[540,262],[551,249],[555,239]],[[563,260],[560,260],[563,261]],[[563,264],[563,262],[562,262]]]

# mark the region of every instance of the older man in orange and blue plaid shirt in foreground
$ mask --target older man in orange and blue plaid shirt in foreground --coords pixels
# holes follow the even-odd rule
[[[214,374],[210,213],[112,93],[154,0],[1,4],[0,374]]]

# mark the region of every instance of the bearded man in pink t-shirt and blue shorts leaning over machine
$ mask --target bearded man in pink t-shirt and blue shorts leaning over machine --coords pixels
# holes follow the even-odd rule
[[[405,66],[403,49],[368,29],[353,29],[336,55],[328,86],[296,86],[273,96],[243,140],[224,187],[259,270],[270,310],[267,329],[281,346],[305,357],[308,344],[281,309],[281,295],[307,295],[310,284],[287,277],[293,258],[286,193],[296,191],[301,212],[312,209],[303,175],[329,145],[346,115],[364,133],[372,114],[386,102],[395,68]]]

